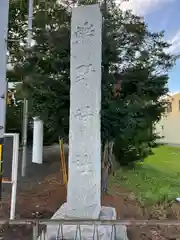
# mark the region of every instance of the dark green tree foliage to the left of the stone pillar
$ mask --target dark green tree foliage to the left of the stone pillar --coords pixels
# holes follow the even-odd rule
[[[26,2],[23,5],[23,14],[26,14],[24,8],[27,7]],[[22,13],[18,11],[18,5],[12,5],[11,8],[16,8],[13,19],[16,16],[18,20],[15,25],[26,28],[25,20],[21,17]],[[16,29],[14,21],[10,22],[12,27],[10,25],[9,32],[13,33],[11,38],[15,38],[16,35],[23,36],[23,29]],[[29,98],[30,117],[41,116],[45,122],[45,129],[48,129],[47,137],[50,139],[54,136],[53,141],[58,135],[68,134],[69,41],[67,39],[70,33],[70,13],[54,0],[48,3],[35,1],[33,23],[36,45],[31,50],[26,49],[23,38],[18,46],[21,54],[20,51],[12,51],[14,46],[10,46],[10,58],[13,59],[14,70],[8,71],[8,78],[11,81],[23,80],[23,87],[19,90],[22,97]],[[55,112],[58,114],[54,114]]]

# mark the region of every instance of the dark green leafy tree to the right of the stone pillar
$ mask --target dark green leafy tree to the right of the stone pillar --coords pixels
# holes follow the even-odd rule
[[[109,71],[103,77],[102,134],[115,140],[115,154],[121,164],[144,158],[156,138],[153,124],[164,112],[159,97],[166,94],[167,70],[173,58],[165,53],[169,45],[163,32],[151,33],[131,12],[108,6],[104,62]],[[106,65],[104,65],[104,68]],[[114,84],[120,91],[114,94]],[[111,93],[111,94],[110,94]]]

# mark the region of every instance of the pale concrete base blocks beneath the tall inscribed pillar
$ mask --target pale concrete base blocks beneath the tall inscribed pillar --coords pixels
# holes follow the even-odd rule
[[[67,204],[62,205],[52,219],[68,219],[65,213]],[[69,208],[68,208],[69,211]],[[69,218],[72,219],[72,218]],[[100,220],[116,220],[116,210],[101,207]],[[78,220],[78,219],[77,219]],[[47,226],[46,240],[128,240],[126,226],[110,225],[62,225]]]

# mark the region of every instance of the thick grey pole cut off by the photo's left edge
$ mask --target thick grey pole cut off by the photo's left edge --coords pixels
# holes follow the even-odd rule
[[[9,0],[0,1],[0,200],[2,194],[3,179],[3,148],[5,134],[6,119],[6,96],[7,96],[7,34],[8,34],[8,16],[9,16]]]

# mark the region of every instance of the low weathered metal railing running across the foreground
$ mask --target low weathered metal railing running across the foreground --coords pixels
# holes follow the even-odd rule
[[[31,226],[32,235],[29,239],[31,240],[69,240],[64,238],[63,228],[65,226],[74,226],[76,228],[75,236],[73,240],[81,240],[83,227],[92,227],[92,240],[99,239],[98,231],[100,226],[108,226],[111,231],[109,240],[117,239],[116,227],[118,226],[180,226],[180,221],[176,220],[0,220],[1,228],[6,226],[9,229],[10,226]],[[47,238],[46,226],[57,226],[57,232],[52,239]],[[27,239],[27,238],[26,238]],[[23,238],[22,238],[23,240]]]

